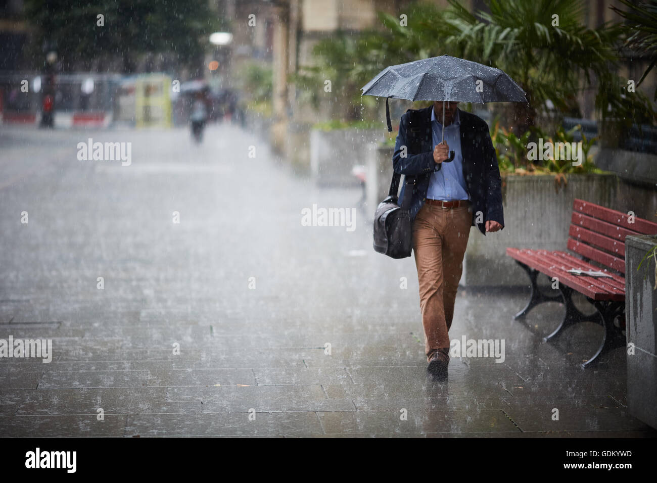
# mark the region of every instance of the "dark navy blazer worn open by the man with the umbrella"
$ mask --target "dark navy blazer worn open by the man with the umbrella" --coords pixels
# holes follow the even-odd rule
[[[409,109],[401,116],[395,152],[392,155],[395,172],[405,175],[414,183],[411,193],[411,219],[415,219],[426,200],[432,173],[439,171],[442,166],[434,162],[432,109],[433,106],[419,110]],[[460,109],[459,116],[463,178],[472,201],[472,225],[476,225],[486,235],[486,221],[489,219],[497,221],[504,227],[502,181],[497,166],[497,155],[486,121]],[[406,149],[404,150],[403,147]],[[405,154],[405,157],[402,154]],[[406,183],[403,184],[399,194],[397,202],[399,206],[405,196],[405,189]],[[480,223],[476,223],[478,218]]]

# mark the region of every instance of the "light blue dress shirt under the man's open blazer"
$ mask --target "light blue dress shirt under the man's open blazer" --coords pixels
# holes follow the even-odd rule
[[[434,149],[442,139],[443,126],[436,119],[436,112],[431,110],[431,131]],[[452,162],[443,162],[440,171],[434,171],[429,181],[426,197],[432,200],[469,200],[467,185],[463,177],[463,156],[461,156],[461,116],[459,109],[454,114],[452,124],[445,127],[445,142],[449,150],[454,151]]]

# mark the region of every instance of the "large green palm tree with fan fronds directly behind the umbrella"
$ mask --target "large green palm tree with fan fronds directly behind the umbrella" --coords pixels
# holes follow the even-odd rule
[[[475,14],[457,0],[449,3],[453,30],[445,41],[459,57],[501,68],[527,92],[530,102],[514,105],[520,133],[547,101],[564,112],[576,93],[616,70],[618,30],[581,24],[581,1],[488,0],[490,12]]]

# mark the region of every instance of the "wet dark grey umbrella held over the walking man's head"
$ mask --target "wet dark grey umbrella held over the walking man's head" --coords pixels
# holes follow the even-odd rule
[[[503,71],[449,55],[386,67],[361,90],[363,95],[386,98],[388,131],[392,131],[390,97],[407,101],[443,101],[443,126],[445,102],[527,102],[525,91]],[[449,161],[453,159],[453,153],[451,151]]]

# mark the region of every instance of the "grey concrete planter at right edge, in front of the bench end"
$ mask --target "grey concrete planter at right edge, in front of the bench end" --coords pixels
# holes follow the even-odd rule
[[[646,252],[657,246],[657,237],[637,235],[625,239],[625,317],[627,342],[627,407],[629,413],[657,428],[657,290],[654,260]]]

